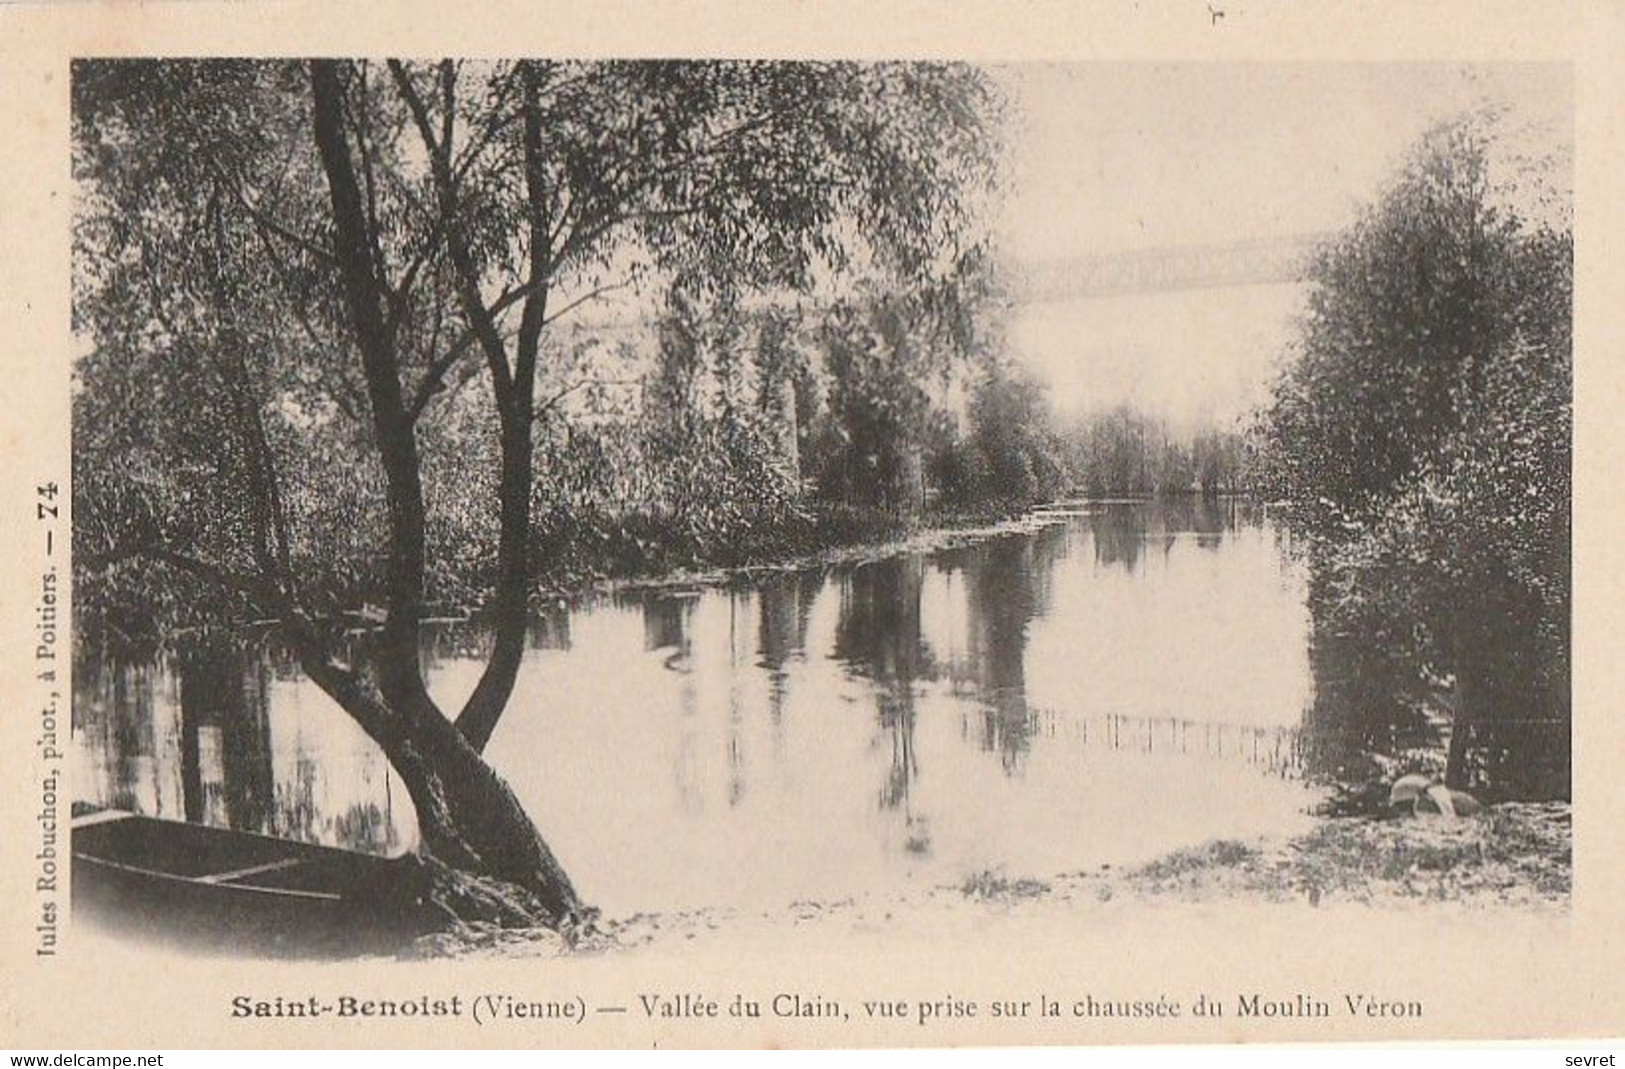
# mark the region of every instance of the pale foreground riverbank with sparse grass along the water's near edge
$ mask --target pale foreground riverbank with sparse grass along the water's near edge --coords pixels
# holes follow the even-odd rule
[[[660,952],[736,941],[941,939],[1003,924],[1087,923],[1170,908],[1341,910],[1560,916],[1571,890],[1568,803],[1502,804],[1462,820],[1334,817],[1285,838],[1214,840],[1128,869],[1053,876],[975,872],[908,894],[601,918],[577,941],[551,931],[470,928],[418,941],[406,957]]]

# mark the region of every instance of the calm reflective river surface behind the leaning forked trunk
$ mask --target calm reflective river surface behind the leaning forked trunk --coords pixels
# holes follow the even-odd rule
[[[448,707],[483,666],[424,635]],[[489,747],[588,902],[770,908],[1149,859],[1306,824],[1303,578],[1240,502],[1038,530],[536,621]],[[411,804],[271,655],[81,664],[83,801],[390,851]]]

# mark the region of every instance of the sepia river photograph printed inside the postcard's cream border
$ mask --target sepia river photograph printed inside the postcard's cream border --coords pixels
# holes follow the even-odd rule
[[[1562,68],[73,76],[86,905],[1566,898]]]

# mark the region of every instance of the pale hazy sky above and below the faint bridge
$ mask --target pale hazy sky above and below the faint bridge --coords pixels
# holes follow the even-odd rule
[[[1526,146],[1571,154],[1565,67],[1024,65],[1003,245],[1019,260],[1346,226],[1433,122],[1503,104]],[[1295,286],[1030,305],[1012,325],[1061,413],[1129,401],[1228,422],[1263,396]]]

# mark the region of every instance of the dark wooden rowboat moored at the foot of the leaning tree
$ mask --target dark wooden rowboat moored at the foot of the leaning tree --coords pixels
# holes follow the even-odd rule
[[[440,920],[411,856],[98,811],[73,820],[73,911],[195,947],[273,957],[398,949]]]

